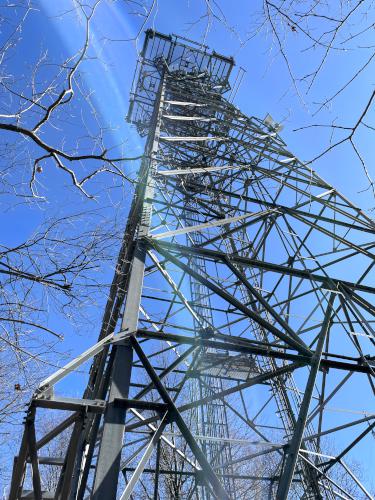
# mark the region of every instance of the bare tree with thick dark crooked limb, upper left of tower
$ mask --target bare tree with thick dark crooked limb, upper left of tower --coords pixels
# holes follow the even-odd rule
[[[19,74],[12,61],[20,50],[23,26],[37,7],[32,0],[0,5],[3,19],[9,16],[0,47],[0,130],[4,134],[0,156],[5,160],[0,171],[3,184],[8,189],[22,187],[23,196],[42,197],[42,173],[54,166],[92,198],[86,190],[89,181],[105,172],[128,180],[126,161],[137,159],[124,155],[124,144],[110,141],[112,128],[102,123],[82,76],[98,57],[90,51],[90,26],[101,3],[75,1],[71,10],[62,13],[70,29],[79,26],[82,40],[75,53],[55,61],[45,49],[30,56],[34,60],[19,64]]]

